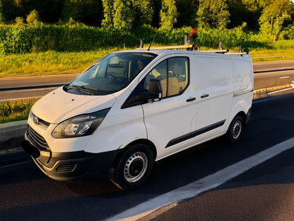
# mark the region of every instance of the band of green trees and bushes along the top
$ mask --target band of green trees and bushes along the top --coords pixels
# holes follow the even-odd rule
[[[90,50],[93,45],[119,42],[133,46],[138,39],[152,40],[156,32],[156,38],[174,35],[167,42],[181,43],[180,36],[189,33],[187,26],[200,29],[199,36],[204,30],[209,35],[216,29],[222,35],[230,32],[237,42],[255,31],[250,42],[273,44],[277,39],[294,39],[294,4],[289,0],[0,0],[4,53]],[[207,36],[197,39],[204,45],[223,41],[219,35],[211,40]]]

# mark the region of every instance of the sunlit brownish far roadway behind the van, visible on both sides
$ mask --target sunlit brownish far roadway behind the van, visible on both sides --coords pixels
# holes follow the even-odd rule
[[[270,71],[276,69],[294,69],[294,61],[282,62],[257,62],[253,64],[254,72]],[[0,78],[1,87],[13,86],[30,86],[42,84],[58,84],[71,81],[76,74],[53,74],[37,77],[6,77]],[[264,89],[266,87],[280,86],[290,84],[294,81],[294,71],[281,72],[265,72],[254,74],[254,89]],[[19,98],[33,98],[48,94],[54,88],[50,89],[28,89],[22,91],[0,91],[0,101],[19,99]]]

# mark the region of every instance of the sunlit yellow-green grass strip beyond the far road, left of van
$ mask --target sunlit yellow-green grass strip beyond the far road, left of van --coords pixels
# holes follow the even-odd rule
[[[81,71],[100,57],[118,48],[89,52],[32,52],[23,55],[0,56],[0,77],[30,75],[45,72]]]

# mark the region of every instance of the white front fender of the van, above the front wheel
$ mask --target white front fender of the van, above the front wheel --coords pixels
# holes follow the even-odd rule
[[[122,149],[134,140],[147,139],[146,127],[143,123],[143,109],[141,106],[121,109],[129,90],[116,94],[117,102],[107,113],[106,118],[85,147],[85,152],[108,152]]]

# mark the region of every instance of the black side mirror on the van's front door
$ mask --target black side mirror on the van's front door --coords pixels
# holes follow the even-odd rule
[[[152,99],[152,101],[160,101],[163,98],[163,87],[158,79],[150,79],[148,92],[143,92],[141,95],[143,100]]]

